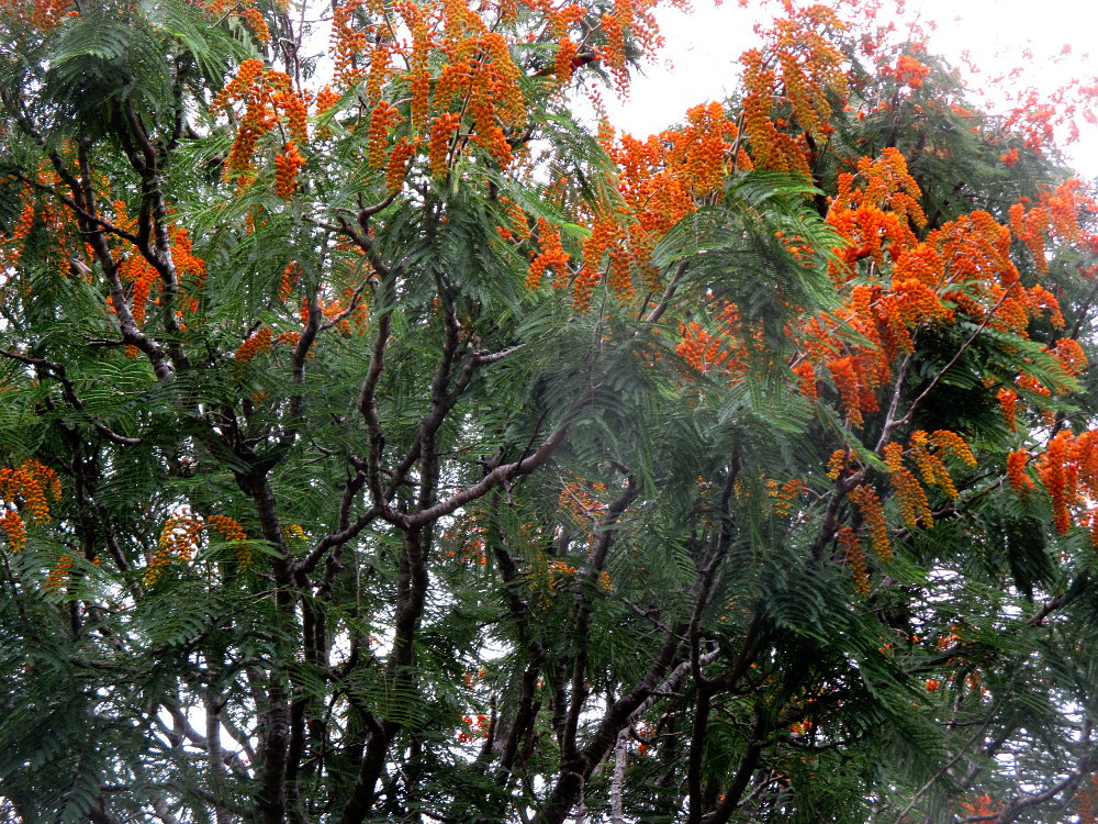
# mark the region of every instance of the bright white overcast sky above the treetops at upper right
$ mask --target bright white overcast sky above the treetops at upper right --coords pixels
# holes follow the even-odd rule
[[[610,122],[620,131],[647,135],[680,120],[691,105],[721,100],[736,87],[737,58],[754,43],[751,30],[757,12],[736,0],[714,8],[713,0],[694,0],[691,14],[664,11],[659,15],[666,38],[665,58],[646,67],[634,79],[627,101],[613,94],[604,99]],[[1089,7],[1089,8],[1088,8]],[[1020,64],[1020,52],[1030,48],[1027,85],[1053,88],[1072,77],[1098,76],[1095,56],[1083,59],[1098,31],[1098,3],[1088,0],[908,0],[908,14],[939,23],[930,49],[960,66],[968,51],[987,74]],[[1071,65],[1050,64],[1065,44],[1073,46]],[[671,65],[669,65],[669,62]],[[978,85],[979,79],[974,80]],[[1085,127],[1084,127],[1085,126]],[[1080,123],[1083,140],[1072,147],[1076,169],[1098,176],[1098,129]]]

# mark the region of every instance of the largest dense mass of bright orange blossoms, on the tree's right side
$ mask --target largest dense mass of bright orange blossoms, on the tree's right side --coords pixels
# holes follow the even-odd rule
[[[959,311],[1017,334],[1024,334],[1037,313],[1060,320],[1047,290],[1019,282],[1006,227],[976,212],[920,241],[916,230],[926,218],[919,197],[904,157],[887,149],[879,158],[859,160],[856,174],[841,176],[828,214],[850,242],[836,249],[847,266],[830,270],[837,285],[849,283],[848,300],[834,316],[813,319],[796,331],[798,371],[808,375],[809,364],[819,375],[826,366],[854,426],[878,411],[877,391],[892,380],[894,360],[915,350],[918,330],[954,323]],[[869,267],[855,267],[866,258]],[[995,318],[987,319],[993,311]],[[845,329],[870,345],[852,342]]]

